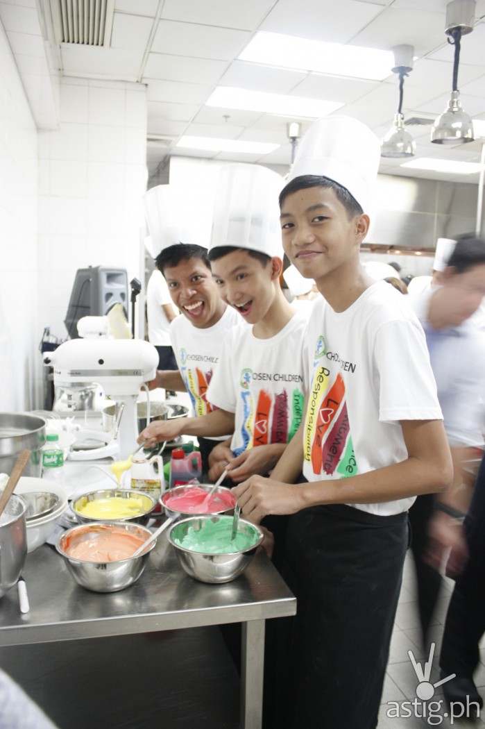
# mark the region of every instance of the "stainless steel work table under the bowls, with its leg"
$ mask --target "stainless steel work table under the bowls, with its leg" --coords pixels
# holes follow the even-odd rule
[[[261,726],[264,621],[296,612],[296,599],[264,553],[224,585],[188,577],[165,536],[140,580],[118,593],[76,585],[52,547],[28,555],[23,574],[31,612],[20,614],[15,588],[1,599],[0,647],[242,623],[240,725]]]

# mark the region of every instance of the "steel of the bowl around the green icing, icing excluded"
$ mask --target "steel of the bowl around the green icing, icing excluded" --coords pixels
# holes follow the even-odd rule
[[[264,539],[259,527],[245,519],[240,519],[238,531],[246,531],[247,534],[253,534],[255,537],[253,547],[248,550],[227,554],[205,554],[185,549],[177,544],[180,539],[184,538],[189,527],[200,529],[204,521],[208,519],[217,521],[220,518],[220,516],[195,516],[176,522],[168,531],[167,539],[176,550],[179,564],[190,577],[194,577],[194,580],[213,584],[235,580],[251,564],[257,548]]]

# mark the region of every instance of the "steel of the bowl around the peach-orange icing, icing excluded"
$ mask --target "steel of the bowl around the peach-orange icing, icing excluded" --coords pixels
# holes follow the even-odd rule
[[[149,538],[151,531],[145,526],[130,524],[125,521],[113,521],[104,524],[81,524],[68,529],[58,539],[55,548],[63,558],[66,566],[71,572],[74,580],[86,590],[92,592],[118,592],[133,585],[141,577],[145,569],[146,560],[156,541],[146,547],[146,552],[139,557],[130,557],[117,562],[87,562],[69,557],[66,553],[68,545],[76,543],[79,539],[90,539],[93,534],[109,527],[116,526],[127,531],[129,534],[136,534],[143,541]]]

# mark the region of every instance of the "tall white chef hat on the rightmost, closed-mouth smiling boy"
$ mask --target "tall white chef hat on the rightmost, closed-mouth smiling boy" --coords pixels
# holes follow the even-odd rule
[[[301,139],[288,182],[302,175],[328,177],[370,213],[380,156],[379,139],[365,124],[352,117],[325,117]]]

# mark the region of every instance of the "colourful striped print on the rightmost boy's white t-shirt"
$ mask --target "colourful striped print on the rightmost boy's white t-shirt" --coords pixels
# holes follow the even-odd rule
[[[315,475],[353,476],[358,473],[358,465],[350,433],[345,382],[341,373],[334,377],[331,370],[319,364],[324,354],[325,340],[320,336],[305,417],[304,460],[311,464]]]

